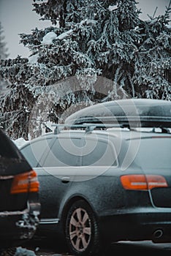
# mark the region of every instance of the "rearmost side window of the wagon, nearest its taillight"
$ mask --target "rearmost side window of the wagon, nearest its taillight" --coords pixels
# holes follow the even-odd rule
[[[82,148],[82,165],[117,165],[114,146],[112,143],[109,143],[109,141],[84,139]]]

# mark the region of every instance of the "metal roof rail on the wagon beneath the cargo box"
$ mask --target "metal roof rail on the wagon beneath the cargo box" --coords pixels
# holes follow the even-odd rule
[[[94,129],[107,129],[107,128],[123,128],[123,124],[95,124],[95,123],[83,123],[83,124],[52,124],[52,127],[56,127],[54,129],[54,134],[59,134],[62,129],[70,128],[70,129],[85,129],[86,132],[92,132]]]

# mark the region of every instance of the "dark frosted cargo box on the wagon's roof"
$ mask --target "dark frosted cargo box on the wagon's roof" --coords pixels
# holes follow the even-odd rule
[[[171,127],[171,102],[161,99],[119,99],[83,108],[65,124],[122,124],[129,127]]]

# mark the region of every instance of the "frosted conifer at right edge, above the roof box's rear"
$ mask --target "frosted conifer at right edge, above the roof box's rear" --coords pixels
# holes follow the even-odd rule
[[[171,1],[164,15],[142,23],[133,81],[141,97],[171,100]]]

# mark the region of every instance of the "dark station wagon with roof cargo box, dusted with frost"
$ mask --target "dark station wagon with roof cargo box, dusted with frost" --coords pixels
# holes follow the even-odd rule
[[[170,102],[124,99],[22,146],[40,183],[38,230],[61,233],[81,256],[113,241],[170,242],[170,127]]]

